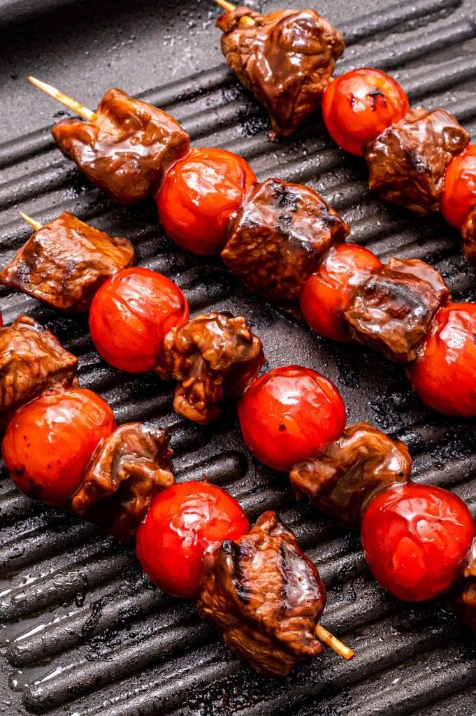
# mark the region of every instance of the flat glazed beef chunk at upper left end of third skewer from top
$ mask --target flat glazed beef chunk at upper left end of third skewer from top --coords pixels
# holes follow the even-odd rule
[[[65,211],[34,232],[0,281],[59,311],[87,311],[102,282],[134,256],[127,238],[111,238]]]

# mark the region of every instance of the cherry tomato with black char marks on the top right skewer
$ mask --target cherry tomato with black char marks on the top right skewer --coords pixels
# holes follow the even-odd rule
[[[368,142],[409,111],[408,97],[389,74],[362,67],[329,82],[322,115],[334,142],[361,156]]]

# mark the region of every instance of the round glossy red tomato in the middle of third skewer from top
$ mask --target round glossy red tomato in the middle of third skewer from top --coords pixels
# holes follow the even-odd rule
[[[312,458],[346,425],[335,385],[298,365],[274,368],[258,378],[238,405],[238,417],[248,448],[275,470],[290,470]]]

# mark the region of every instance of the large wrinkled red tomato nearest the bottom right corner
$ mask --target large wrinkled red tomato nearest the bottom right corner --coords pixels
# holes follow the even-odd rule
[[[371,573],[405,601],[424,601],[446,591],[475,535],[475,521],[457,495],[415,483],[374,497],[361,528]]]

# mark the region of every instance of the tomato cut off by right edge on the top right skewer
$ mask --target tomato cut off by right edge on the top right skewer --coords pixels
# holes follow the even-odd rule
[[[442,214],[461,228],[476,206],[476,144],[470,144],[447,166],[441,200]]]

